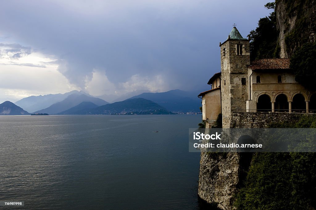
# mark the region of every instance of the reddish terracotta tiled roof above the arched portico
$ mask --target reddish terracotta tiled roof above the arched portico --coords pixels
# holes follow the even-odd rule
[[[249,66],[252,70],[256,69],[289,69],[290,59],[288,58],[265,58],[252,61]]]

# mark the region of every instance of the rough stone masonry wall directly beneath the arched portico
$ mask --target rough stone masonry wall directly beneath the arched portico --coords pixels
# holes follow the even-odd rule
[[[264,112],[232,112],[231,128],[266,128],[271,122],[295,122],[301,116],[316,120],[316,114],[310,113],[264,113]]]

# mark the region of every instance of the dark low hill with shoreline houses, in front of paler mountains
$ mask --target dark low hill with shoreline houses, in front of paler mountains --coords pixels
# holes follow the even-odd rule
[[[127,99],[97,108],[83,109],[70,114],[173,114],[166,108],[144,98]]]

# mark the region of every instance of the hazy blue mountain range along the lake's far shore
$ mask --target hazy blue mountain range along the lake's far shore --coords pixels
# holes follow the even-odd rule
[[[125,99],[136,93],[138,91],[125,94],[121,98]],[[111,104],[77,90],[64,94],[26,97],[15,102],[16,107],[15,104],[9,103],[6,102],[5,106],[2,106],[3,114],[29,114],[31,111],[48,114],[170,114],[199,112],[201,106],[201,101],[195,93],[183,90],[147,92]]]

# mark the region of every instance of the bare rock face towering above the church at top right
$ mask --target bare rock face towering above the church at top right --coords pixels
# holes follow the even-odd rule
[[[276,1],[280,57],[290,58],[305,42],[316,41],[316,1]]]

